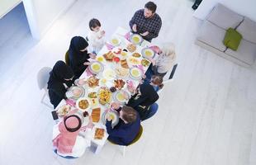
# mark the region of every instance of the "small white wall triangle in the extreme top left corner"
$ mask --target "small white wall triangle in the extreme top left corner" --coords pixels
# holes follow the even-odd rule
[[[0,18],[16,7],[21,0],[0,0]]]

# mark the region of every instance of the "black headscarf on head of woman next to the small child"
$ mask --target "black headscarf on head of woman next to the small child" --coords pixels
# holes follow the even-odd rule
[[[69,56],[72,57],[73,54],[76,54],[78,56],[83,56],[88,54],[88,51],[80,51],[84,50],[86,47],[88,47],[88,42],[82,37],[82,36],[74,36],[69,45]]]

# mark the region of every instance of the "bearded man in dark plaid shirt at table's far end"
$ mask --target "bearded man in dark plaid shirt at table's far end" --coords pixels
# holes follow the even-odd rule
[[[160,16],[155,13],[156,7],[154,2],[147,2],[145,8],[135,12],[135,15],[130,20],[130,30],[133,33],[140,34],[149,42],[159,35],[162,26]]]

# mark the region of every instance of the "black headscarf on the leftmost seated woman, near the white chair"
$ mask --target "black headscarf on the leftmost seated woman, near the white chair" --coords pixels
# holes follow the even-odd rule
[[[59,82],[66,82],[66,80],[64,79],[69,79],[73,77],[73,70],[63,61],[59,60],[50,72],[50,77],[58,79]]]

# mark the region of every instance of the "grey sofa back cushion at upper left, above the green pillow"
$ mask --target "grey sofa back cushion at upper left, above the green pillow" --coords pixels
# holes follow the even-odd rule
[[[239,23],[243,21],[244,16],[240,16],[236,12],[233,12],[229,8],[218,3],[206,19],[216,26],[227,30],[230,27],[235,29],[236,26],[239,26]]]

